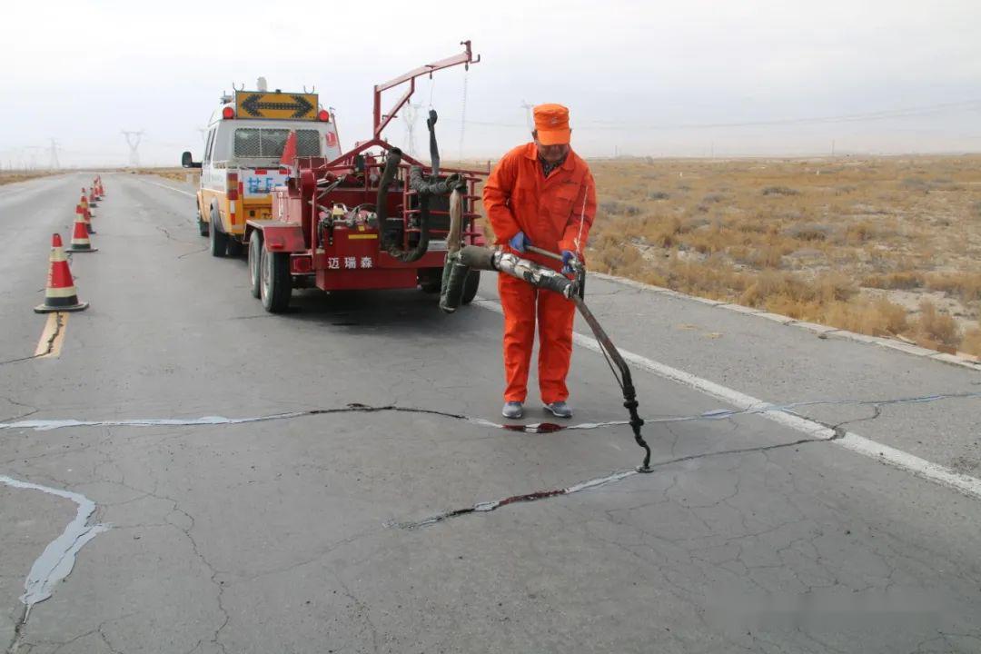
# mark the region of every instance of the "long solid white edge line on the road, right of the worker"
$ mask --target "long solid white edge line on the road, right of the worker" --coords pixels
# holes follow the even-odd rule
[[[473,303],[484,309],[495,311],[498,314],[503,313],[500,304],[492,300],[477,298]],[[572,340],[576,345],[581,345],[588,350],[601,352],[593,336],[573,332]],[[722,384],[715,383],[714,381],[709,381],[708,379],[696,377],[691,373],[686,373],[685,371],[678,370],[677,368],[671,368],[670,366],[666,366],[662,363],[653,361],[652,359],[643,357],[640,354],[634,354],[633,352],[620,348],[617,349],[620,350],[620,356],[622,356],[625,361],[630,362],[648,373],[653,373],[658,377],[677,381],[678,383],[703,392],[706,395],[710,395],[715,399],[722,400],[723,402],[739,407],[742,410],[747,410],[751,407],[766,406],[768,404],[767,402],[752,397],[751,395],[747,395],[746,393],[741,393],[738,390],[723,386]],[[926,459],[921,459],[918,456],[896,449],[895,447],[883,445],[882,443],[866,438],[865,436],[860,436],[852,431],[845,431],[843,436],[834,438],[836,435],[834,429],[827,428],[820,423],[783,411],[761,411],[758,415],[784,427],[802,431],[811,438],[831,440],[831,442],[841,445],[852,452],[862,454],[881,463],[885,463],[895,468],[912,473],[916,477],[929,479],[936,483],[948,486],[968,497],[981,499],[981,479],[961,475],[950,468],[927,461]],[[832,440],[832,438],[834,438],[834,440]]]

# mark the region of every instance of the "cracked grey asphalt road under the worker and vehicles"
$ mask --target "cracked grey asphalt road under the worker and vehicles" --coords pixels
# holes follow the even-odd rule
[[[419,291],[296,291],[271,316],[243,260],[206,252],[188,187],[122,175],[72,260],[90,308],[30,358],[88,178],[0,187],[0,423],[90,423],[0,428],[6,652],[981,651],[981,499],[922,465],[977,481],[981,399],[884,403],[981,374],[594,280],[614,340],[691,377],[635,369],[660,422],[631,474],[623,426],[458,418],[498,421],[490,280],[451,317]],[[707,382],[820,402],[797,413],[908,461],[783,412],[705,416],[734,408]],[[624,419],[585,346],[570,386],[572,424]],[[877,404],[829,403],[855,400]],[[127,423],[149,419],[171,423]],[[50,592],[29,612],[26,583]]]

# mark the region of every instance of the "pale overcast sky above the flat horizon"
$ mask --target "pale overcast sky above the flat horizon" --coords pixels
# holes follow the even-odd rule
[[[77,0],[2,15],[4,168],[46,166],[52,138],[63,165],[123,165],[122,129],[145,131],[144,165],[177,165],[200,155],[221,92],[259,75],[315,85],[350,146],[370,135],[374,83],[466,38],[482,62],[414,97],[439,111],[443,158],[526,140],[524,101],[570,107],[586,156],[981,150],[979,0]],[[400,120],[386,134],[408,146]]]

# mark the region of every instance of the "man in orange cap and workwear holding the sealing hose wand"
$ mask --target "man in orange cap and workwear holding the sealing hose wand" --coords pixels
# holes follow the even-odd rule
[[[507,252],[572,274],[572,259],[583,259],[593,226],[596,193],[586,162],[569,147],[569,110],[535,108],[534,142],[505,154],[484,186],[484,206],[496,242]],[[527,251],[529,245],[561,253],[565,265]],[[539,290],[507,275],[497,277],[504,309],[505,418],[524,415],[528,370],[539,326],[539,389],[547,411],[571,418],[565,377],[572,358],[575,305],[558,293]]]

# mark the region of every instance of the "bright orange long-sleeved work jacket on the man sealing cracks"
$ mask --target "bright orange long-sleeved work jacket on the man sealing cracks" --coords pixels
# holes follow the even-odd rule
[[[484,207],[496,243],[524,231],[533,245],[559,253],[572,250],[582,258],[596,214],[596,185],[590,167],[569,150],[551,175],[542,175],[535,143],[505,154],[484,185]],[[526,259],[558,270],[558,262],[533,253]]]

